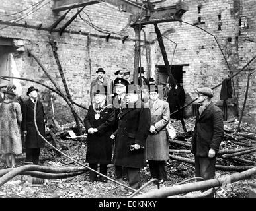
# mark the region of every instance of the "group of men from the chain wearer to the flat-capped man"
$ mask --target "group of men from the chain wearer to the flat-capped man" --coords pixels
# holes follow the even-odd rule
[[[133,82],[123,78],[122,71],[117,71],[116,79],[112,82],[109,91],[106,80],[101,80],[105,71],[99,68],[97,71],[99,76],[91,84],[92,104],[84,120],[89,133],[87,162],[95,171],[97,164],[101,164],[100,172],[104,175],[107,175],[107,164],[114,163],[116,179],[127,175],[128,183],[134,189],[140,187],[140,169],[146,166],[146,160],[151,176],[161,182],[166,180],[165,160],[169,158],[169,143],[161,144],[164,149],[160,151],[161,159],[157,156],[157,159],[149,160],[151,159],[149,154],[157,153],[156,148],[160,147],[157,144],[159,145],[162,138],[167,136],[166,133],[159,135],[160,132],[165,131],[169,123],[171,105],[167,102],[172,100],[176,103],[180,102],[175,109],[181,109],[184,99],[180,100],[177,96],[181,93],[182,98],[185,98],[184,90],[176,86],[176,92],[169,90],[167,102],[160,100],[158,86],[149,83],[144,76],[142,78],[141,71],[143,68],[139,67],[138,85],[132,85]],[[196,176],[212,179],[215,175],[216,154],[224,136],[223,113],[212,103],[213,92],[210,88],[198,88],[196,93],[197,102],[202,106],[196,117],[191,150],[195,156]],[[158,102],[157,107],[154,107],[155,102]],[[157,109],[161,111],[154,114]],[[157,134],[158,136],[155,136]],[[148,138],[149,136],[151,138]],[[148,149],[149,146],[151,149]],[[163,154],[167,156],[163,157]],[[96,173],[91,171],[90,181],[96,180]],[[100,181],[106,182],[105,177],[100,177]]]

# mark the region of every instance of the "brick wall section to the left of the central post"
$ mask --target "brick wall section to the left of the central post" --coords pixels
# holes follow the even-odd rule
[[[47,2],[48,1],[44,1],[44,3]],[[12,13],[29,8],[35,3],[38,3],[38,1],[1,1],[0,15],[2,22],[0,22],[0,38],[13,38],[15,48],[19,49],[19,51],[13,52],[15,65],[19,71],[18,76],[29,78],[54,88],[36,61],[32,59],[32,57],[28,57],[26,49],[29,49],[40,59],[50,75],[56,80],[56,83],[63,87],[58,67],[52,54],[52,49],[48,43],[50,37],[57,42],[58,55],[72,98],[75,102],[85,107],[89,107],[89,86],[91,80],[97,77],[95,71],[97,71],[99,67],[105,69],[105,77],[109,82],[114,79],[114,72],[118,69],[133,72],[134,30],[128,26],[130,14],[121,13],[115,7],[106,5],[105,3],[90,5],[85,7],[84,12],[81,13],[81,17],[87,20],[91,26],[77,16],[66,28],[67,31],[60,36],[59,32],[54,30],[59,30],[64,26],[77,12],[77,9],[72,9],[52,33],[50,33],[48,29],[66,12],[52,12],[52,3],[46,5],[42,3],[40,6],[44,5],[43,7],[40,9],[39,7],[35,8],[34,13],[28,16],[26,15],[29,14],[28,11],[30,10],[9,16]],[[6,23],[11,22],[11,20],[15,18],[19,20],[21,16],[24,16],[24,18],[19,22],[14,21],[14,24],[11,26]],[[40,24],[42,24],[42,26],[40,26]],[[108,34],[99,32],[99,30],[111,34],[108,41],[106,40]],[[117,34],[114,34],[114,32]],[[126,35],[129,35],[128,39],[122,42],[122,38]],[[142,65],[146,67],[146,58],[143,56]],[[36,86],[36,88],[39,89],[40,97],[44,102],[48,117],[52,117],[52,107],[50,103],[50,96],[52,96],[57,120],[60,121],[60,123],[73,121],[73,115],[69,107],[64,100],[54,92],[51,92],[44,86],[34,84],[33,82],[19,80],[19,83],[21,84],[23,99],[27,98],[26,91],[29,86]],[[85,117],[86,111],[84,109],[77,109],[81,117]]]

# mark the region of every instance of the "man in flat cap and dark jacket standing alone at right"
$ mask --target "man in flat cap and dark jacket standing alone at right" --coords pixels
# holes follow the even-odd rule
[[[196,177],[214,179],[216,156],[224,137],[224,114],[212,103],[211,88],[197,88],[199,107],[196,116],[191,152],[194,154]],[[202,190],[203,191],[203,190]],[[213,193],[210,197],[213,197]]]

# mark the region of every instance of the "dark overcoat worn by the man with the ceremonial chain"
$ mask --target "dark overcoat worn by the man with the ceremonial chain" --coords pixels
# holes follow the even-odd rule
[[[99,119],[95,119],[95,110],[93,105],[89,106],[89,110],[84,119],[85,128],[97,128],[98,132],[87,136],[86,162],[91,164],[110,164],[112,158],[113,140],[110,138],[114,125],[114,108],[110,104],[110,108],[106,107],[101,111]],[[100,111],[101,109],[99,109]]]

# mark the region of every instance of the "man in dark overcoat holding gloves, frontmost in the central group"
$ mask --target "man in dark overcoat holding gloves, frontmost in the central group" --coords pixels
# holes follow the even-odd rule
[[[130,187],[140,187],[140,169],[146,166],[145,145],[150,129],[150,110],[139,97],[140,88],[128,87],[128,107],[120,115],[118,129],[111,138],[116,138],[113,162],[124,166]]]

